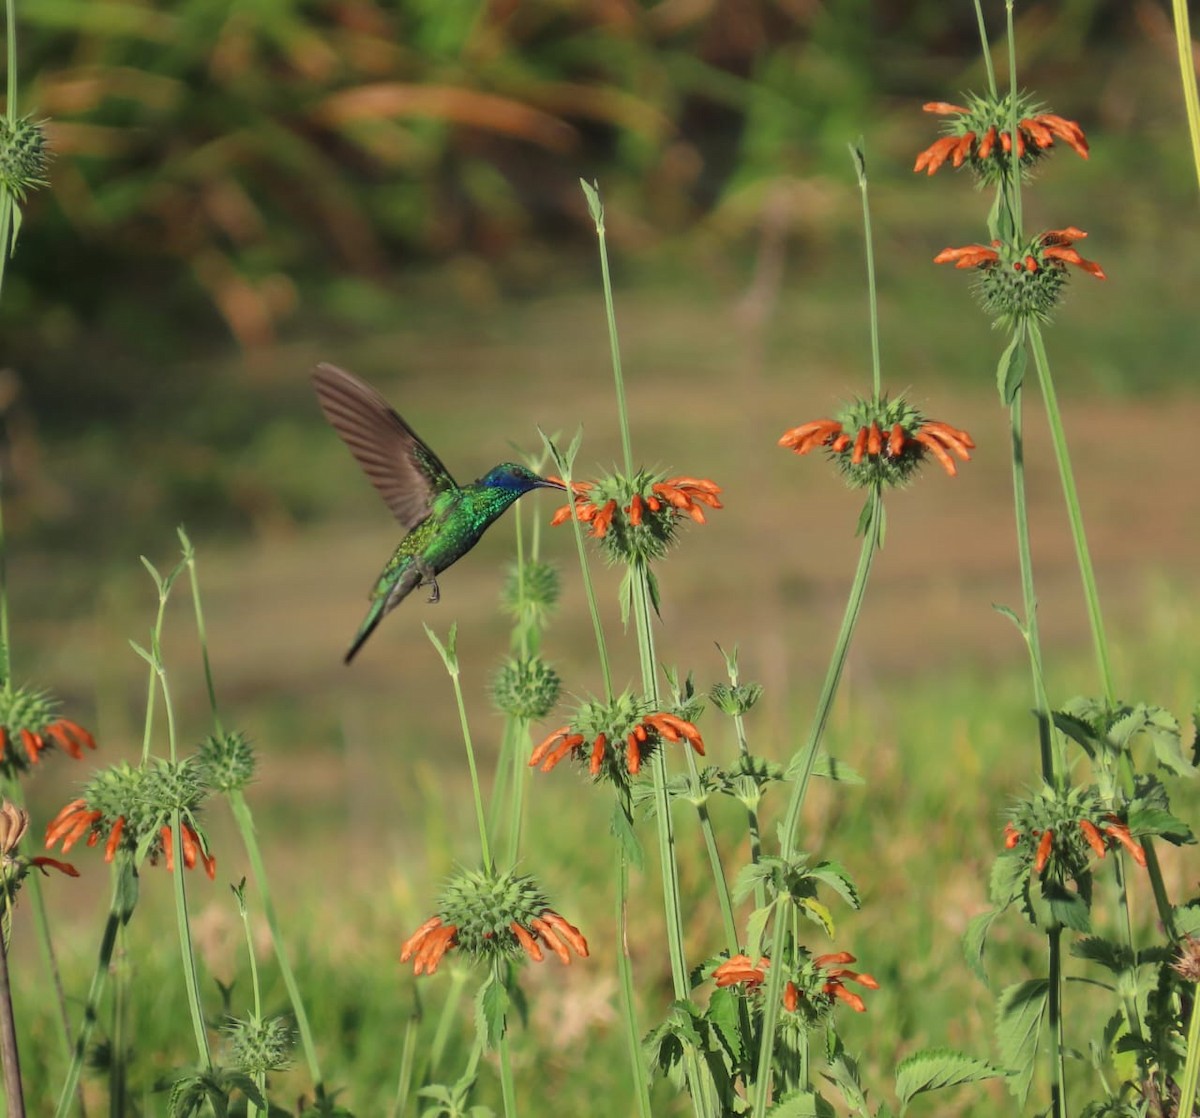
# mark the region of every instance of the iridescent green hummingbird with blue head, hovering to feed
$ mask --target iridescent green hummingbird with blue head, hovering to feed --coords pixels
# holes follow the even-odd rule
[[[428,585],[430,601],[438,601],[438,575],[466,555],[518,497],[565,486],[514,462],[460,486],[371,385],[324,363],[317,366],[313,384],[325,419],[406,533],[371,591],[367,615],[346,654],[349,663],[384,617],[418,587]]]

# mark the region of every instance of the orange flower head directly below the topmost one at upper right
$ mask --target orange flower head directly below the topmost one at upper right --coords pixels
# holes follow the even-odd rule
[[[1084,259],[1073,247],[1085,236],[1074,226],[1046,229],[1022,245],[992,241],[943,248],[934,263],[974,269],[979,302],[997,321],[1008,325],[1030,318],[1044,321],[1062,297],[1068,264],[1097,280],[1108,278],[1099,264]]]

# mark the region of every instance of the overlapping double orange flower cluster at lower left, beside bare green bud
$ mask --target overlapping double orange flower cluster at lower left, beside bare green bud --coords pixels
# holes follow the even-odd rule
[[[174,831],[170,817],[179,811],[184,844],[184,865],[191,870],[197,861],[210,878],[217,864],[198,830],[197,812],[206,792],[200,767],[192,761],[157,762],[133,768],[121,763],[98,773],[84,794],[67,804],[46,829],[47,849],[62,844],[62,853],[80,838],[96,846],[104,838],[104,861],[119,852],[133,855],[148,842],[151,864],[163,858],[168,870],[175,868]]]

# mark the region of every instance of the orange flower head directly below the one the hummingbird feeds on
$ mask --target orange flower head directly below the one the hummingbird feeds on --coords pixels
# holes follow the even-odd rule
[[[590,699],[534,749],[529,765],[548,773],[570,755],[586,761],[592,776],[624,785],[664,741],[686,741],[704,753],[700,731],[678,714],[654,710],[629,693],[607,703]]]

